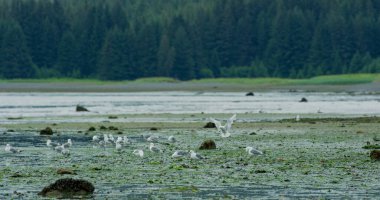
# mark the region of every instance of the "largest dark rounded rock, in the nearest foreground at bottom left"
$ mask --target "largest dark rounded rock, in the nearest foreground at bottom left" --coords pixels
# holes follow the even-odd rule
[[[59,179],[45,187],[38,195],[53,198],[78,198],[94,193],[94,186],[86,180]]]

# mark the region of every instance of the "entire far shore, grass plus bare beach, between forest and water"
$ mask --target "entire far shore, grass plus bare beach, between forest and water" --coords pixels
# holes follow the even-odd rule
[[[380,74],[325,75],[309,79],[215,78],[178,81],[167,77],[134,81],[95,79],[0,80],[0,92],[380,92]]]

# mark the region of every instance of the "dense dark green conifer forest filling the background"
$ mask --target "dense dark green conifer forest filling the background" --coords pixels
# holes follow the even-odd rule
[[[378,0],[0,0],[0,78],[380,72]]]

